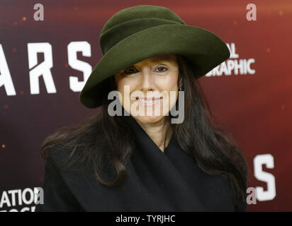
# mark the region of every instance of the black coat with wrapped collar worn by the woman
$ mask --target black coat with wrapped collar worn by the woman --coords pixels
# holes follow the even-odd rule
[[[60,172],[46,161],[44,204],[35,211],[245,211],[244,203],[233,205],[228,180],[203,173],[174,136],[163,153],[133,117],[127,118],[136,148],[126,181],[108,188],[90,174]]]

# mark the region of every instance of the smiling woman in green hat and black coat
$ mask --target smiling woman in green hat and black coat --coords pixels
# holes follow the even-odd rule
[[[197,80],[228,59],[226,44],[148,5],[113,15],[100,44],[80,101],[101,109],[45,139],[36,211],[245,211],[245,158],[211,121]]]

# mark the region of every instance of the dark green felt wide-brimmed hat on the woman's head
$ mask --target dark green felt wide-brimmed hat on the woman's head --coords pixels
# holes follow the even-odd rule
[[[103,57],[94,67],[79,100],[85,107],[102,104],[107,78],[121,69],[162,54],[180,54],[200,78],[230,57],[217,35],[186,25],[176,13],[163,6],[139,5],[114,14],[99,37]]]

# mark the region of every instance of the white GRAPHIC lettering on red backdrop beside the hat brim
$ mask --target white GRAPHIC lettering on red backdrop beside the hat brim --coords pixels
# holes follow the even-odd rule
[[[235,43],[226,43],[226,45],[230,51],[230,58],[209,71],[206,77],[253,75],[255,70],[252,69],[252,64],[254,64],[255,60],[253,58],[240,59],[240,55],[235,52]]]

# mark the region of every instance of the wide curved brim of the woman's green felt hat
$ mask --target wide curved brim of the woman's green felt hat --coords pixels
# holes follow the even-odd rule
[[[101,105],[103,81],[121,69],[161,54],[181,54],[193,63],[200,78],[230,57],[230,51],[217,35],[191,25],[159,25],[118,42],[94,67],[79,100],[88,108]]]

